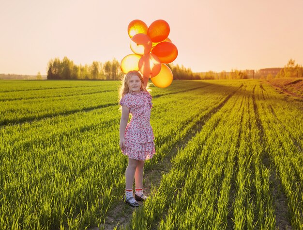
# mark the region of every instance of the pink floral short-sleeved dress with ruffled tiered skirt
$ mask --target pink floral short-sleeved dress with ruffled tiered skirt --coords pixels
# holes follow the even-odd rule
[[[151,159],[155,153],[153,132],[150,123],[152,96],[149,92],[131,91],[120,100],[121,106],[127,106],[132,115],[127,124],[124,137],[125,147],[122,153],[129,158],[145,161]]]

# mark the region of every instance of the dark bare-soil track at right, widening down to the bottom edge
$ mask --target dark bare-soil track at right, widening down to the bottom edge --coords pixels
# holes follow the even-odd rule
[[[258,106],[256,103],[256,96],[255,96],[255,88],[256,85],[253,88],[253,105],[254,105],[254,113],[256,115],[256,123],[257,123],[257,127],[258,130],[260,131],[260,139],[263,140],[262,142],[262,146],[263,149],[265,150],[265,143],[266,143],[266,134],[264,131],[264,127],[262,125],[262,121],[260,119],[260,115],[258,113]],[[270,181],[272,181],[273,185],[272,185],[272,194],[273,194],[273,202],[275,205],[275,215],[276,215],[276,228],[288,228],[290,227],[290,223],[287,219],[286,214],[288,213],[288,201],[287,201],[287,197],[284,194],[283,191],[280,191],[279,188],[282,187],[282,183],[280,180],[277,180],[277,172],[276,172],[276,167],[275,164],[273,163],[272,159],[269,156],[268,152],[263,152],[263,164],[270,169],[270,171],[272,171],[273,173],[271,173],[270,175]]]

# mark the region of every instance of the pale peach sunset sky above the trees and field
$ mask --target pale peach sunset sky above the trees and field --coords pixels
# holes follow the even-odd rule
[[[46,74],[50,59],[119,62],[127,26],[164,19],[194,72],[303,65],[303,0],[0,0],[0,73]]]

